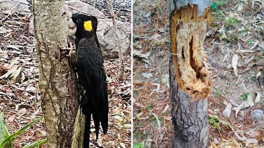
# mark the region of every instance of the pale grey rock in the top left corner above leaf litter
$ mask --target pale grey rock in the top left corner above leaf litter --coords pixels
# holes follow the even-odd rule
[[[19,2],[19,4],[17,4]],[[31,10],[29,9],[29,4],[27,0],[0,0],[0,7],[1,9],[7,9],[9,10],[10,8],[14,8],[14,10],[18,10],[19,12],[22,13],[31,13]]]

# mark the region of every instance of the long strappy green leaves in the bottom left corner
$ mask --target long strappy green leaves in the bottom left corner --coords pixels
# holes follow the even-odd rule
[[[4,148],[5,146],[9,148],[14,148],[13,141],[17,139],[17,136],[24,133],[26,129],[28,129],[30,126],[34,125],[37,121],[40,121],[43,117],[39,117],[30,123],[28,125],[25,125],[23,128],[17,130],[15,133],[10,134],[5,123],[3,122],[3,112],[0,113],[0,148]],[[47,143],[47,139],[41,139],[38,141],[35,141],[33,143],[28,143],[27,145],[23,146],[22,148],[34,148],[36,146],[40,146],[44,143]]]

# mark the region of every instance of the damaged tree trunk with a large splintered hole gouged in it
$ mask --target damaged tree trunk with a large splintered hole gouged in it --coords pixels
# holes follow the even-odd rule
[[[169,0],[169,13],[173,147],[205,148],[211,80],[203,42],[211,16],[211,0]]]

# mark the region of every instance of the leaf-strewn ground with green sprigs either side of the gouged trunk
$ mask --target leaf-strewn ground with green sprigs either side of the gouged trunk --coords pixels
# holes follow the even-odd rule
[[[263,146],[263,120],[251,120],[252,111],[264,110],[263,4],[259,0],[213,1],[204,42],[212,79],[208,97],[211,148]],[[168,25],[167,0],[133,1],[134,148],[172,146]],[[237,76],[232,60],[237,63]],[[224,117],[227,105],[232,111]]]

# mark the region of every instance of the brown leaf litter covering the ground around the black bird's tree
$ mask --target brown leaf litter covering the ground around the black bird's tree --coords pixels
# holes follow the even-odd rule
[[[43,116],[43,113],[35,41],[28,34],[32,15],[14,10],[12,5],[9,7],[0,8],[0,112],[4,113],[3,121],[8,131],[14,133],[36,117]],[[118,59],[105,58],[104,66],[108,81],[109,128],[106,135],[102,134],[100,128],[97,143],[91,140],[90,147],[130,148],[131,54],[124,56],[125,72],[122,81],[117,80]],[[95,139],[93,122],[91,132],[91,139]],[[21,148],[29,142],[45,138],[43,119],[19,135],[13,144]]]

